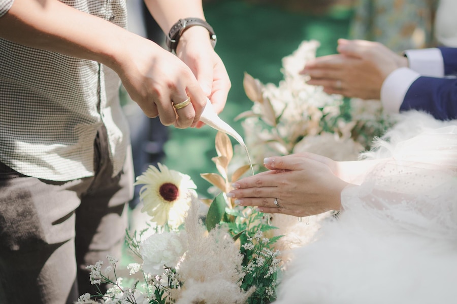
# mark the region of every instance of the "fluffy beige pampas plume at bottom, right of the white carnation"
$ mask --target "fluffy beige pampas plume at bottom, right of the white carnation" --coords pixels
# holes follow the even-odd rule
[[[188,250],[179,265],[184,286],[173,290],[176,304],[242,304],[254,291],[240,288],[243,257],[225,230],[216,227],[206,231],[199,219],[199,206],[200,201],[194,198],[185,221]]]

